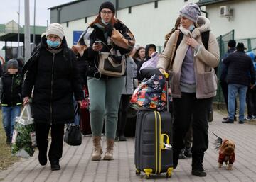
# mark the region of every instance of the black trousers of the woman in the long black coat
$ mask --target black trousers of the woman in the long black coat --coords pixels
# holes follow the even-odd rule
[[[64,124],[49,125],[36,123],[36,142],[39,152],[47,152],[48,135],[50,131],[51,143],[48,153],[49,161],[59,161],[63,154]]]

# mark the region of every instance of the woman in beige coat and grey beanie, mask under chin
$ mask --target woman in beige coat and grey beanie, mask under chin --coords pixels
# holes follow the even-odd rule
[[[180,36],[183,34],[183,38],[176,50],[174,62],[170,65],[176,33],[166,43],[157,67],[161,72],[169,72],[171,81],[174,102],[174,169],[178,165],[178,155],[185,147],[183,138],[192,122],[191,174],[206,176],[203,156],[208,148],[210,105],[217,91],[217,77],[213,68],[218,66],[219,48],[212,33],[209,33],[208,49],[203,46],[201,34],[210,31],[210,21],[200,16],[201,11],[196,4],[184,6],[179,14]]]

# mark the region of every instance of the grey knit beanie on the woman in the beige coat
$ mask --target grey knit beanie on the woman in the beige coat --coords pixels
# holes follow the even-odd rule
[[[198,5],[190,3],[184,6],[179,14],[180,16],[185,16],[189,20],[196,23],[198,21],[198,16],[201,15],[201,10]]]

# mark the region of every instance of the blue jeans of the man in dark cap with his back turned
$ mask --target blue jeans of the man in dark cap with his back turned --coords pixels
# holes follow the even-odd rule
[[[235,98],[239,94],[239,120],[245,119],[245,99],[247,86],[241,84],[228,84],[228,118],[234,120]]]

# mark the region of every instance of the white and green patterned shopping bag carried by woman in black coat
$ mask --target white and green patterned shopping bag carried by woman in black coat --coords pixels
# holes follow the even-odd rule
[[[16,157],[32,157],[36,147],[36,132],[31,108],[26,104],[21,115],[16,117],[14,134],[11,140],[11,154]]]

